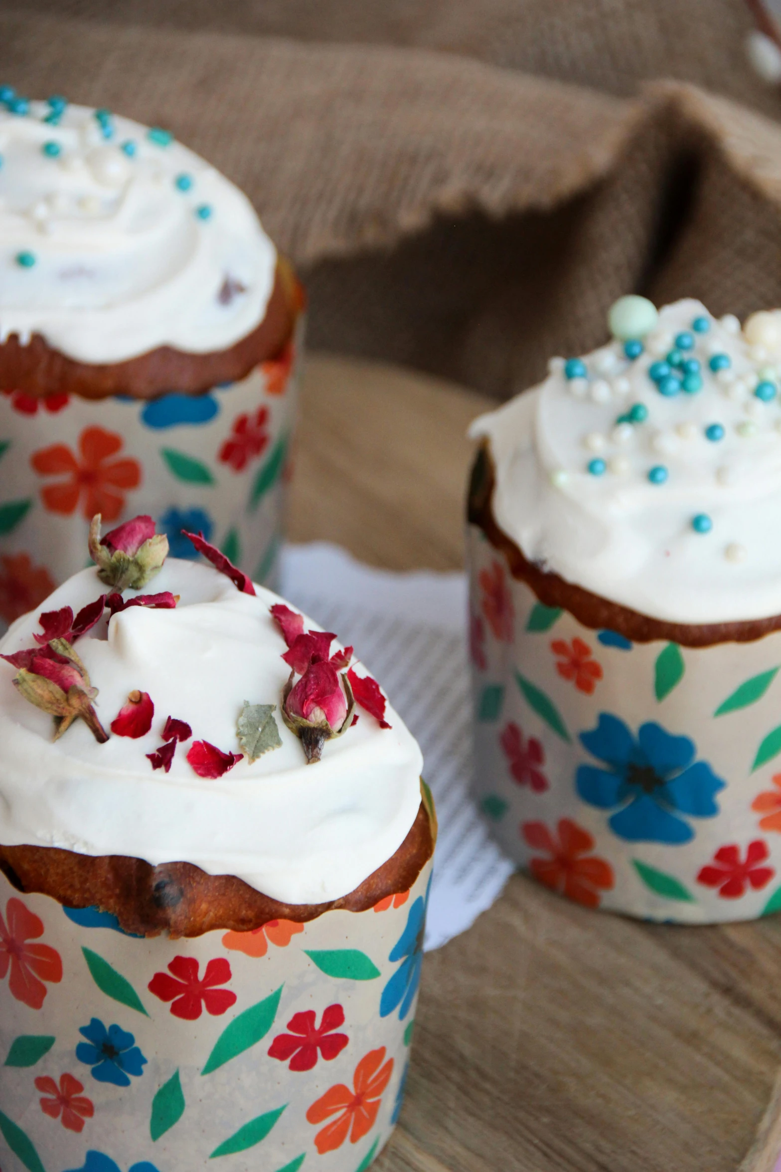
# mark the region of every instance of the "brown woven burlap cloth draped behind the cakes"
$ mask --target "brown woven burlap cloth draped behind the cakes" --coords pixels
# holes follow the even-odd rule
[[[503,397],[621,293],[781,305],[781,95],[749,27],[741,0],[0,0],[0,79],[235,179],[314,347]]]

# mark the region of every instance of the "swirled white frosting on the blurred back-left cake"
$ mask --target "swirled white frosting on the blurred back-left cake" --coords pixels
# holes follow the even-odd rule
[[[251,333],[276,252],[246,196],[129,118],[104,122],[107,138],[91,109],[68,105],[57,125],[43,121],[50,114],[46,102],[23,116],[0,104],[0,340],[39,333],[97,363],[165,345],[221,350]]]

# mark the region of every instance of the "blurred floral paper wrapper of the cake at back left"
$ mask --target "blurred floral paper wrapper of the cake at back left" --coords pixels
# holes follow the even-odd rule
[[[174,557],[204,531],[274,585],[303,322],[280,360],[204,395],[34,400],[0,393],[0,628],[87,563],[103,531],[149,513]]]

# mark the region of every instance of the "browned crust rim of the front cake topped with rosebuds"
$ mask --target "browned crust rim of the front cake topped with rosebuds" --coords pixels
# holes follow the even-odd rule
[[[18,891],[52,895],[66,907],[100,907],[125,932],[199,936],[214,929],[251,932],[269,920],[314,920],[342,908],[363,912],[407,891],[433,854],[436,826],[420,803],[396,854],[341,899],[281,904],[235,875],[210,875],[192,863],[152,866],[121,854],[76,854],[53,846],[0,846],[0,868]]]

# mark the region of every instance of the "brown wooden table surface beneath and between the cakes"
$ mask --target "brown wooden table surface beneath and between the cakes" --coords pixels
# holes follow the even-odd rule
[[[464,432],[489,406],[311,357],[293,540],[460,567]],[[655,926],[515,875],[423,972],[406,1103],[377,1172],[773,1172],[781,917]]]

